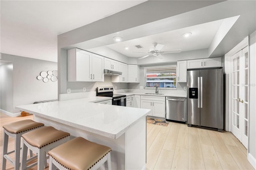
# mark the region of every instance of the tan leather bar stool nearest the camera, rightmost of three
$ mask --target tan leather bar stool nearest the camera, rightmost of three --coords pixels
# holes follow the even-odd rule
[[[77,137],[48,152],[49,170],[97,169],[106,161],[111,169],[110,151],[110,147]]]

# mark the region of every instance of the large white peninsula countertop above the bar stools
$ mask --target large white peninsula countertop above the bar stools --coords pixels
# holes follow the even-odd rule
[[[120,137],[140,118],[151,112],[150,109],[90,103],[108,98],[88,97],[20,105],[15,108],[112,139]]]

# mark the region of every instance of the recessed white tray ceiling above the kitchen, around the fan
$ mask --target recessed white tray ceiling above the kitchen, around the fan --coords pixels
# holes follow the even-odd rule
[[[134,53],[133,51],[149,52],[151,48],[154,48],[154,45],[152,45],[153,42],[163,44],[162,51],[181,49],[182,52],[185,52],[189,50],[207,49],[222,22],[223,20],[217,20],[106,46],[127,57],[145,56],[145,53]],[[182,35],[187,32],[191,32],[192,35],[183,37]],[[141,45],[143,48],[138,49],[135,45]],[[126,50],[124,48],[125,46],[129,49]]]

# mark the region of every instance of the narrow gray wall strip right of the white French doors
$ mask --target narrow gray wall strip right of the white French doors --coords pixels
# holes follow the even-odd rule
[[[256,159],[256,31],[249,36],[250,55],[250,120],[249,120],[249,147],[248,152]],[[256,162],[255,162],[256,163]],[[254,167],[255,168],[255,167]]]

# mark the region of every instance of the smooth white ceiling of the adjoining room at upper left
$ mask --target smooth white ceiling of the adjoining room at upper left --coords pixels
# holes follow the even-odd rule
[[[57,35],[145,1],[1,1],[1,53],[57,62]]]

